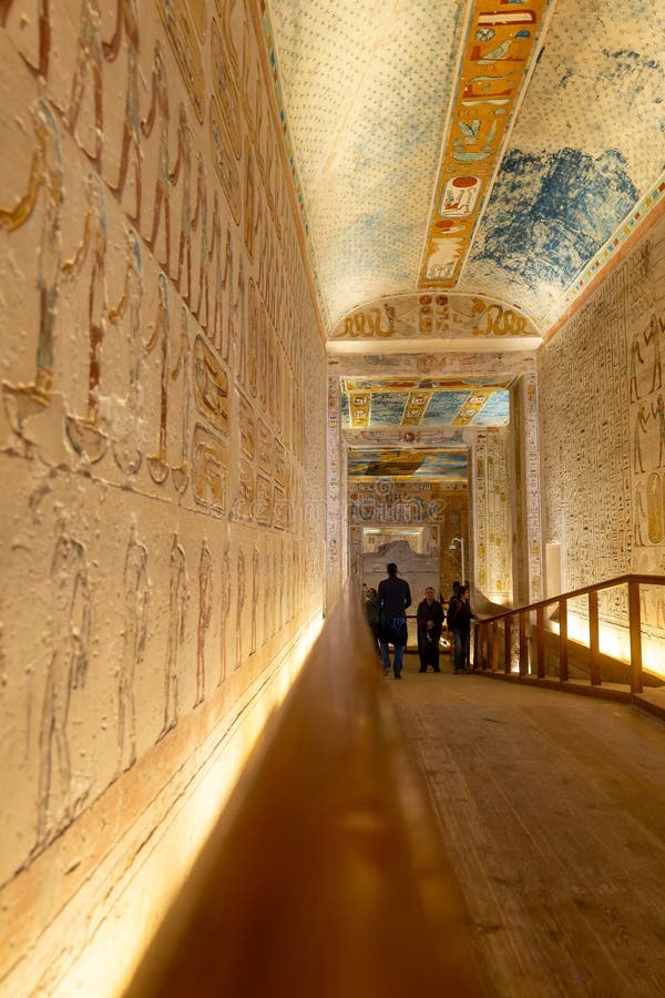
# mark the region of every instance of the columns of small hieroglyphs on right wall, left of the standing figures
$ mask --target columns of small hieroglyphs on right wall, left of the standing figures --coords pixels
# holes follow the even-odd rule
[[[630,269],[617,267],[539,357],[544,540],[561,544],[564,591],[636,568]],[[620,602],[605,612],[621,615],[610,599]]]

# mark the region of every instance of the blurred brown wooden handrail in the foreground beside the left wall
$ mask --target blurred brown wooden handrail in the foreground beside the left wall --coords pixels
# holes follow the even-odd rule
[[[479,994],[348,585],[127,998]]]

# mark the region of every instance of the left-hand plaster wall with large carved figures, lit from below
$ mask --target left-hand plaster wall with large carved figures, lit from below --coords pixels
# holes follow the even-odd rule
[[[0,11],[0,990],[116,994],[320,622],[254,8]]]

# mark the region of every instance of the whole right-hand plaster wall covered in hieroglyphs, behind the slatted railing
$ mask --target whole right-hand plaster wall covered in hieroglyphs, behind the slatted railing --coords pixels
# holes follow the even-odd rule
[[[544,543],[563,591],[665,572],[665,221],[617,263],[539,353]],[[602,595],[625,620],[625,587]],[[643,594],[659,632],[665,594]]]

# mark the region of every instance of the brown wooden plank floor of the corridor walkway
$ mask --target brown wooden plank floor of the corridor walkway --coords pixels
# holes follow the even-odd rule
[[[484,994],[665,996],[665,723],[482,676],[382,680]]]

